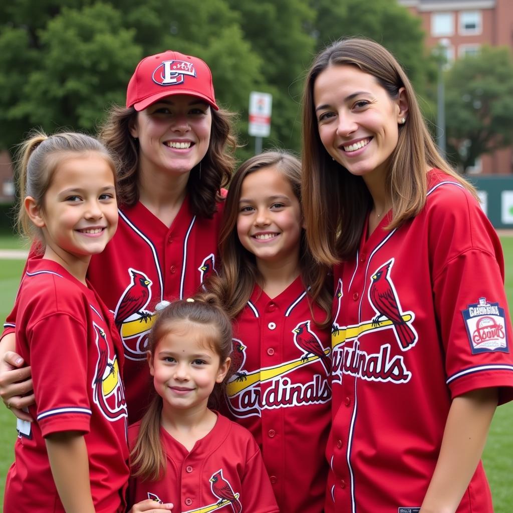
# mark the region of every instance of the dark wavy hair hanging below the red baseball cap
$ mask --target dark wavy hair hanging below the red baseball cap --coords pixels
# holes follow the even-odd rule
[[[223,201],[221,188],[230,181],[235,163],[233,152],[237,146],[232,132],[233,114],[222,109],[210,108],[210,111],[210,144],[203,160],[192,168],[187,182],[192,213],[203,218],[212,218],[217,210],[216,203]],[[125,206],[133,206],[139,201],[139,142],[130,134],[136,117],[137,111],[133,107],[114,105],[98,132],[105,146],[119,155],[119,203]]]

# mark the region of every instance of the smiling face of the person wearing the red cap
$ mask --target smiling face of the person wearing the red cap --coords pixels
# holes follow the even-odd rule
[[[210,144],[212,113],[200,98],[174,94],[137,112],[130,128],[139,140],[139,172],[188,174],[199,164]]]

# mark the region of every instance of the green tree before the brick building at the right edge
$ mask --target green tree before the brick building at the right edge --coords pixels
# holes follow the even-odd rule
[[[446,73],[447,157],[466,172],[477,157],[513,142],[513,60],[507,47],[483,47]]]

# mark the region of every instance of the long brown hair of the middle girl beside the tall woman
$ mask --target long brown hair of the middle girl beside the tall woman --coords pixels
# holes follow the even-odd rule
[[[220,276],[211,276],[205,286],[222,298],[223,306],[234,319],[246,306],[255,283],[263,285],[263,277],[257,267],[255,255],[248,251],[237,234],[237,218],[242,184],[246,176],[259,169],[274,167],[290,183],[294,195],[301,205],[301,162],[283,150],[268,151],[255,155],[244,162],[233,175],[226,198],[223,226],[221,227],[219,251],[221,256]],[[314,319],[322,327],[330,325],[332,297],[327,283],[327,269],[318,265],[309,251],[305,230],[301,230],[300,241],[301,278],[305,286],[310,286],[310,310],[317,303],[326,312],[324,319]],[[313,318],[313,312],[312,312]]]

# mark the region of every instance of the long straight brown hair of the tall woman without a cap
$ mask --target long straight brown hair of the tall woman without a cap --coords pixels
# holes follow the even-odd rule
[[[392,206],[388,229],[415,217],[426,203],[426,166],[439,168],[473,195],[475,189],[444,161],[426,127],[406,73],[378,43],[361,38],[338,41],[315,57],[303,93],[303,209],[308,245],[318,262],[332,265],[353,257],[358,249],[372,198],[361,176],[332,160],[324,148],[315,116],[313,86],[330,66],[356,66],[374,77],[389,97],[404,88],[408,103],[405,125],[390,156],[386,194]]]

